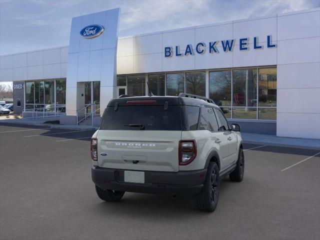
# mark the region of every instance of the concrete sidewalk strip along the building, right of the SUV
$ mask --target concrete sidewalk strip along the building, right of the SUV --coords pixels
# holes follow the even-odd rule
[[[320,151],[320,140],[276,135],[241,132],[244,143],[262,144],[271,146],[285,146],[296,148],[315,149]]]

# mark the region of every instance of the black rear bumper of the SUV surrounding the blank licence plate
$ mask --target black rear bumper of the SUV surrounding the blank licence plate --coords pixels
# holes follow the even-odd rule
[[[201,191],[206,169],[194,171],[144,171],[145,183],[124,182],[124,169],[91,168],[92,181],[102,189],[117,191],[160,193],[160,194],[196,194]]]

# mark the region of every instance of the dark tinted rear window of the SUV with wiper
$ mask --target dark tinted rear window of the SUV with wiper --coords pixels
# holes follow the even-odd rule
[[[108,106],[100,125],[101,130],[181,130],[178,105]]]

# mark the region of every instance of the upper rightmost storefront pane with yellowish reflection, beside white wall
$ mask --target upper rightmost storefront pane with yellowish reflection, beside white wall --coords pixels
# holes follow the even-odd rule
[[[258,69],[259,106],[276,106],[276,68]]]

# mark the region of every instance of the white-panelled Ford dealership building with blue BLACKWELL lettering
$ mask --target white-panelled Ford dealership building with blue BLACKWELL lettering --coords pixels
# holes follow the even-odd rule
[[[111,98],[150,88],[209,97],[243,131],[320,139],[320,8],[126,37],[119,20],[73,17],[68,46],[1,55],[14,112],[97,125]]]

